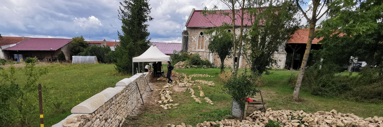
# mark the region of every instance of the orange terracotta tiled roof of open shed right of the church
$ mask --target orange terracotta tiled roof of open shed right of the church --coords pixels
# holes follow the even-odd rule
[[[320,29],[315,29],[315,31]],[[298,29],[293,34],[293,38],[291,38],[287,43],[307,43],[307,40],[309,39],[309,29]],[[323,37],[320,39],[314,38],[313,44],[317,44],[320,40],[322,40]]]

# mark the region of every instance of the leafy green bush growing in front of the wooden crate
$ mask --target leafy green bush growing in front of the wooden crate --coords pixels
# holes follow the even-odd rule
[[[224,90],[237,101],[241,108],[245,106],[245,98],[255,96],[259,92],[257,87],[263,85],[262,77],[255,75],[253,72],[247,72],[235,75],[231,74],[230,79],[224,83]]]

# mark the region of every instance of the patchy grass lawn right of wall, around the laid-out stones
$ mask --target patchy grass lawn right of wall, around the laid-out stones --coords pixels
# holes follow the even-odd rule
[[[208,74],[215,77],[192,77],[191,80],[209,80],[215,81],[216,87],[208,87],[206,84],[196,84],[192,86],[195,95],[199,96],[197,86],[203,88],[205,96],[209,97],[214,105],[206,103],[202,98],[203,104],[196,103],[188,92],[173,92],[173,103],[180,103],[177,109],[164,110],[160,107],[146,109],[143,113],[137,114],[137,117],[126,118],[124,127],[162,127],[166,124],[180,125],[184,122],[187,125],[196,125],[203,121],[216,121],[224,118],[230,118],[231,97],[222,93],[221,84],[217,82],[219,69],[174,69],[178,73]],[[383,116],[383,104],[359,103],[351,100],[342,100],[339,98],[323,98],[309,93],[301,92],[301,102],[293,101],[293,89],[287,84],[288,76],[298,74],[298,71],[273,70],[272,75],[264,75],[266,84],[261,88],[264,100],[268,107],[273,110],[303,110],[306,113],[315,113],[316,111],[331,111],[336,109],[341,113],[354,113],[359,117]],[[348,74],[348,73],[345,73]],[[162,84],[165,84],[163,82]],[[255,98],[260,99],[257,94]],[[157,104],[159,105],[159,104]]]

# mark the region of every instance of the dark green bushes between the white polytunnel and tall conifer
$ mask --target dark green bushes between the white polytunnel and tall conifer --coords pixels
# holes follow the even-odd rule
[[[107,63],[109,62],[108,55],[110,52],[110,47],[98,47],[97,45],[93,45],[85,49],[83,52],[79,53],[79,56],[97,56],[98,62]]]

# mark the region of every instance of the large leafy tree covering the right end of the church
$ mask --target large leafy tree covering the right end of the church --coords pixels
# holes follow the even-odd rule
[[[291,38],[300,27],[300,18],[295,16],[298,8],[295,2],[286,0],[283,3],[265,0],[255,0],[254,6],[269,6],[262,8],[252,8],[247,11],[250,16],[254,16],[254,22],[246,39],[244,50],[245,59],[250,69],[261,75],[268,68],[277,65],[274,53],[284,50],[287,40]]]

